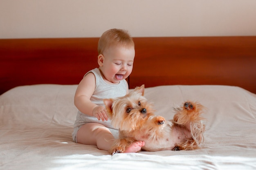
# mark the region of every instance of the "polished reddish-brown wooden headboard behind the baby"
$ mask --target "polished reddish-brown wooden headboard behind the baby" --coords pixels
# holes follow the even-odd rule
[[[20,85],[78,84],[97,65],[99,38],[1,39],[0,94]],[[129,87],[240,86],[256,93],[256,36],[134,38]]]

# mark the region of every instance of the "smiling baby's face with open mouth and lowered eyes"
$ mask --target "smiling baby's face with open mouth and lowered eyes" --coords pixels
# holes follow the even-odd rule
[[[112,47],[103,54],[100,66],[103,78],[107,83],[118,84],[132,73],[135,49],[123,46]]]

